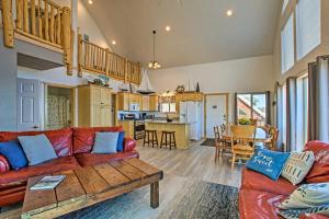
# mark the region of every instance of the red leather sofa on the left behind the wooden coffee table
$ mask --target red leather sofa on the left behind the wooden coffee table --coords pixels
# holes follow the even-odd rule
[[[8,160],[0,155],[0,207],[24,199],[26,181],[31,176],[72,170],[76,166],[94,165],[98,163],[139,158],[135,151],[136,141],[124,139],[124,151],[115,154],[90,153],[95,131],[120,131],[122,127],[68,128],[48,131],[8,132],[0,131],[0,142],[16,139],[18,136],[45,134],[52,142],[58,158],[38,165],[26,166],[19,171],[11,170]]]

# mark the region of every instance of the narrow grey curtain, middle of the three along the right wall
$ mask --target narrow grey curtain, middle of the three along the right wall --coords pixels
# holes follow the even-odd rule
[[[286,79],[286,146],[285,151],[296,150],[296,93],[297,80]]]

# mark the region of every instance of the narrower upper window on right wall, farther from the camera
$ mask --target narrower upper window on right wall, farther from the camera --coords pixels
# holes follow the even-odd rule
[[[281,66],[282,73],[285,73],[295,64],[294,47],[294,14],[290,16],[281,31]]]

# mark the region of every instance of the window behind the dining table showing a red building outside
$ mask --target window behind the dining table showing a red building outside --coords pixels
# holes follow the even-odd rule
[[[237,120],[241,118],[253,118],[258,125],[268,123],[268,95],[266,93],[241,93],[236,97]]]

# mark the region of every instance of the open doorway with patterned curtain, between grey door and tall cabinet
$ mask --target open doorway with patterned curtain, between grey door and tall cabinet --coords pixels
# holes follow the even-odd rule
[[[45,84],[45,129],[69,128],[75,120],[75,89]]]

